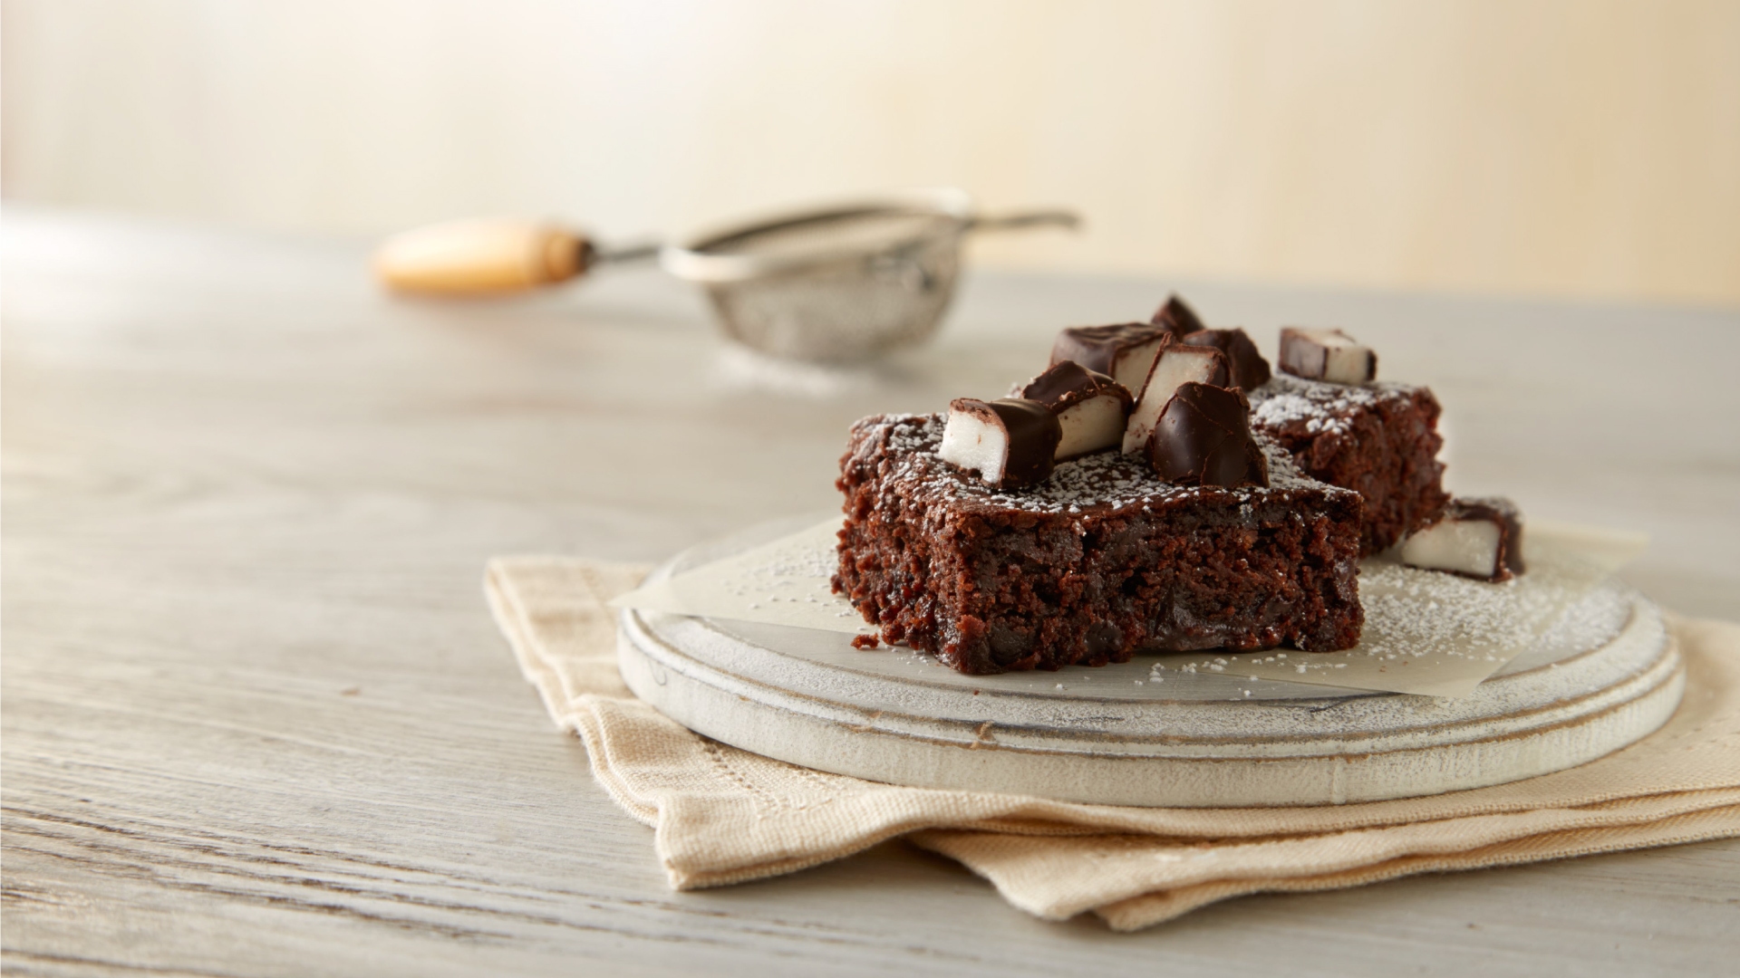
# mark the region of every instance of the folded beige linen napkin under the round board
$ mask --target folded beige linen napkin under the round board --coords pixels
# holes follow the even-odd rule
[[[616,673],[606,602],[644,573],[512,557],[491,560],[484,590],[552,719],[585,740],[611,797],[654,827],[677,889],[780,875],[908,835],[1030,914],[1093,910],[1136,929],[1244,893],[1740,835],[1740,625],[1674,621],[1688,670],[1679,712],[1582,767],[1348,806],[1114,807],[882,785],[698,736]]]

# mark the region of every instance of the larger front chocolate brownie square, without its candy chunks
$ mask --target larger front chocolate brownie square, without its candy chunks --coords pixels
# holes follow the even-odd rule
[[[840,459],[833,588],[889,642],[994,673],[1359,640],[1361,498],[1262,435],[1268,487],[1174,486],[1098,452],[1016,491],[941,461],[941,437],[938,414],[865,418]]]

